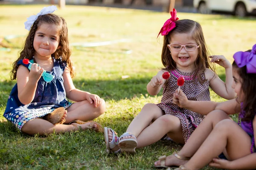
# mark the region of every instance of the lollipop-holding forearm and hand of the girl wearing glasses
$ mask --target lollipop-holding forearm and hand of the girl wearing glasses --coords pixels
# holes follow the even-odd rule
[[[151,81],[147,85],[147,91],[150,95],[155,96],[157,95],[163,85],[166,83],[168,79],[163,79],[162,75],[166,71],[160,70],[156,76],[154,76]]]

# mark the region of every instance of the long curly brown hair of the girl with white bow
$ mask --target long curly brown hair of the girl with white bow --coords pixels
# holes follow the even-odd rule
[[[71,77],[74,77],[74,70],[72,68],[72,62],[70,60],[71,50],[69,47],[68,41],[68,31],[67,31],[67,23],[63,17],[59,17],[56,14],[45,14],[41,15],[35,20],[34,24],[32,25],[28,36],[26,37],[26,41],[23,45],[23,49],[20,51],[20,57],[12,64],[12,71],[11,71],[11,79],[16,79],[17,76],[17,69],[18,65],[17,62],[20,59],[33,59],[35,49],[33,46],[35,31],[37,31],[38,27],[41,26],[42,23],[47,23],[49,25],[55,24],[58,26],[59,36],[60,36],[60,43],[59,47],[53,54],[52,57],[55,59],[62,58],[63,62],[67,63],[67,67],[70,69]]]

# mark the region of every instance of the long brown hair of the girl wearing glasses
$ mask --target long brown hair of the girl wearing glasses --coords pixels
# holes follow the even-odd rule
[[[192,33],[193,39],[198,43],[198,58],[195,61],[195,78],[198,78],[199,82],[203,83],[207,81],[202,78],[202,74],[206,68],[211,69],[215,72],[215,65],[210,62],[210,54],[207,49],[206,42],[204,40],[204,34],[202,27],[200,24],[193,20],[177,20],[175,21],[176,27],[169,32],[169,34],[163,37],[163,48],[161,59],[163,66],[163,70],[174,70],[176,68],[176,62],[172,59],[172,54],[170,54],[170,50],[167,47],[170,44],[172,35],[174,34],[190,34]]]

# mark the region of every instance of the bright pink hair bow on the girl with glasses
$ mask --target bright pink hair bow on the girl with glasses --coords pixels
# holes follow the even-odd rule
[[[175,21],[177,21],[179,18],[177,17],[177,11],[175,8],[170,12],[171,18],[168,19],[164,24],[163,27],[161,28],[159,34],[157,37],[162,34],[162,35],[167,35],[170,31],[172,31],[173,28],[176,27]]]

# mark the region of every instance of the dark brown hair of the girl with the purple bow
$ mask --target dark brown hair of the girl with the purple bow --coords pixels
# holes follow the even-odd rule
[[[249,50],[250,51],[250,50]],[[242,111],[244,111],[242,121],[250,122],[256,114],[256,74],[247,73],[246,65],[239,68],[234,61],[232,64],[241,79],[241,91],[244,93]]]

